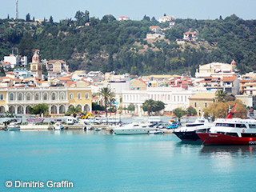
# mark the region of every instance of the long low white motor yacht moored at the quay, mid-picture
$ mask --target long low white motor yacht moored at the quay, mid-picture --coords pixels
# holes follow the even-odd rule
[[[149,134],[150,130],[154,128],[148,123],[130,123],[113,129],[115,134]]]

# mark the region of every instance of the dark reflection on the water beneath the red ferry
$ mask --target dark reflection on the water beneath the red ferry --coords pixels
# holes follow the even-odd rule
[[[256,156],[256,146],[203,146],[202,155],[214,157],[248,157]]]

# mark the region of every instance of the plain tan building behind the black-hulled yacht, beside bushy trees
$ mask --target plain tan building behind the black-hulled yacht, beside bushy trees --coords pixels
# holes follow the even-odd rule
[[[198,114],[201,115],[204,108],[210,106],[215,100],[215,93],[198,93],[192,95],[190,98],[190,106],[197,110]]]

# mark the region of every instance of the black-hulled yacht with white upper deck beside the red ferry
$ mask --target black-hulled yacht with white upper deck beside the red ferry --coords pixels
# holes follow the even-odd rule
[[[186,123],[186,126],[178,128],[173,133],[182,141],[197,141],[200,140],[200,138],[198,137],[198,134],[196,134],[196,131],[206,132],[210,130],[211,126],[214,126],[214,123],[203,118],[202,114],[202,117],[197,118],[195,122],[188,122]]]

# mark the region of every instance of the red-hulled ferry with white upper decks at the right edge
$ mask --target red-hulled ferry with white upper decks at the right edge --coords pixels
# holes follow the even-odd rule
[[[256,120],[217,119],[208,133],[197,134],[205,145],[255,145]]]

